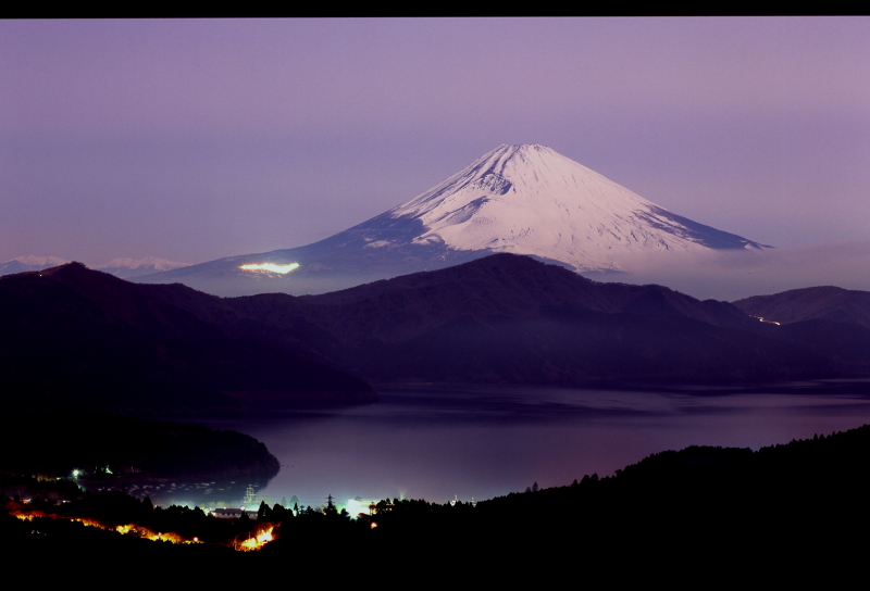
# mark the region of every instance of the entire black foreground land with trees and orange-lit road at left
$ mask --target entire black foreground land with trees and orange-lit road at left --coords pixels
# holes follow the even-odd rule
[[[865,544],[855,533],[870,525],[869,488],[870,427],[863,426],[758,452],[703,447],[662,452],[611,477],[587,475],[543,490],[535,483],[525,493],[476,505],[385,500],[356,520],[328,506],[300,507],[294,516],[281,505],[261,504],[256,520],[225,526],[198,510],[157,510],[117,493],[86,495],[65,505],[39,498],[26,505],[7,500],[9,516],[0,519],[0,536],[15,549],[14,556],[25,559],[80,559],[96,552],[117,561],[107,564],[149,558],[158,568],[172,559],[215,561],[199,564],[210,568],[310,564],[322,559],[324,548],[339,548],[362,552],[366,561],[369,549],[388,549],[380,563],[386,561],[393,575],[434,569],[434,575],[487,580],[520,574],[547,580],[585,565],[591,580],[673,580],[710,570],[718,578],[775,574],[791,580],[863,565]],[[109,529],[134,523],[174,531],[176,541],[200,536],[210,544],[97,533],[52,519],[51,513],[97,519]],[[233,545],[229,538],[265,529],[274,541],[259,554],[225,548]],[[456,548],[463,549],[459,557]],[[325,576],[355,580],[364,564],[336,564]]]

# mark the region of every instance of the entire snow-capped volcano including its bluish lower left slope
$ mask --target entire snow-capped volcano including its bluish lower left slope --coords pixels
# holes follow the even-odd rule
[[[638,254],[763,248],[676,215],[550,148],[504,144],[414,199],[325,240],[136,280],[179,281],[227,296],[299,294],[498,252],[593,272],[620,271]]]

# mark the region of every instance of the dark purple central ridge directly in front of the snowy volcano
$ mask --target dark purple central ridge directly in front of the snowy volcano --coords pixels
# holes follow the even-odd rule
[[[322,296],[224,302],[381,381],[741,382],[836,372],[823,354],[755,334],[760,323],[729,303],[597,284],[511,254]]]

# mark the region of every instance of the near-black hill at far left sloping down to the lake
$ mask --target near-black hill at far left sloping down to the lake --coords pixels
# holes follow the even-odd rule
[[[375,398],[366,382],[310,351],[229,336],[141,287],[77,263],[0,278],[3,404],[201,415],[238,412],[239,399],[258,394]],[[203,300],[220,313],[219,298]]]

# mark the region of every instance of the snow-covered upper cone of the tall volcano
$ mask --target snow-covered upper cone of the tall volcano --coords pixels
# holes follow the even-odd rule
[[[422,222],[417,244],[531,254],[576,271],[618,269],[642,251],[761,248],[678,216],[538,144],[499,146],[385,215]]]

